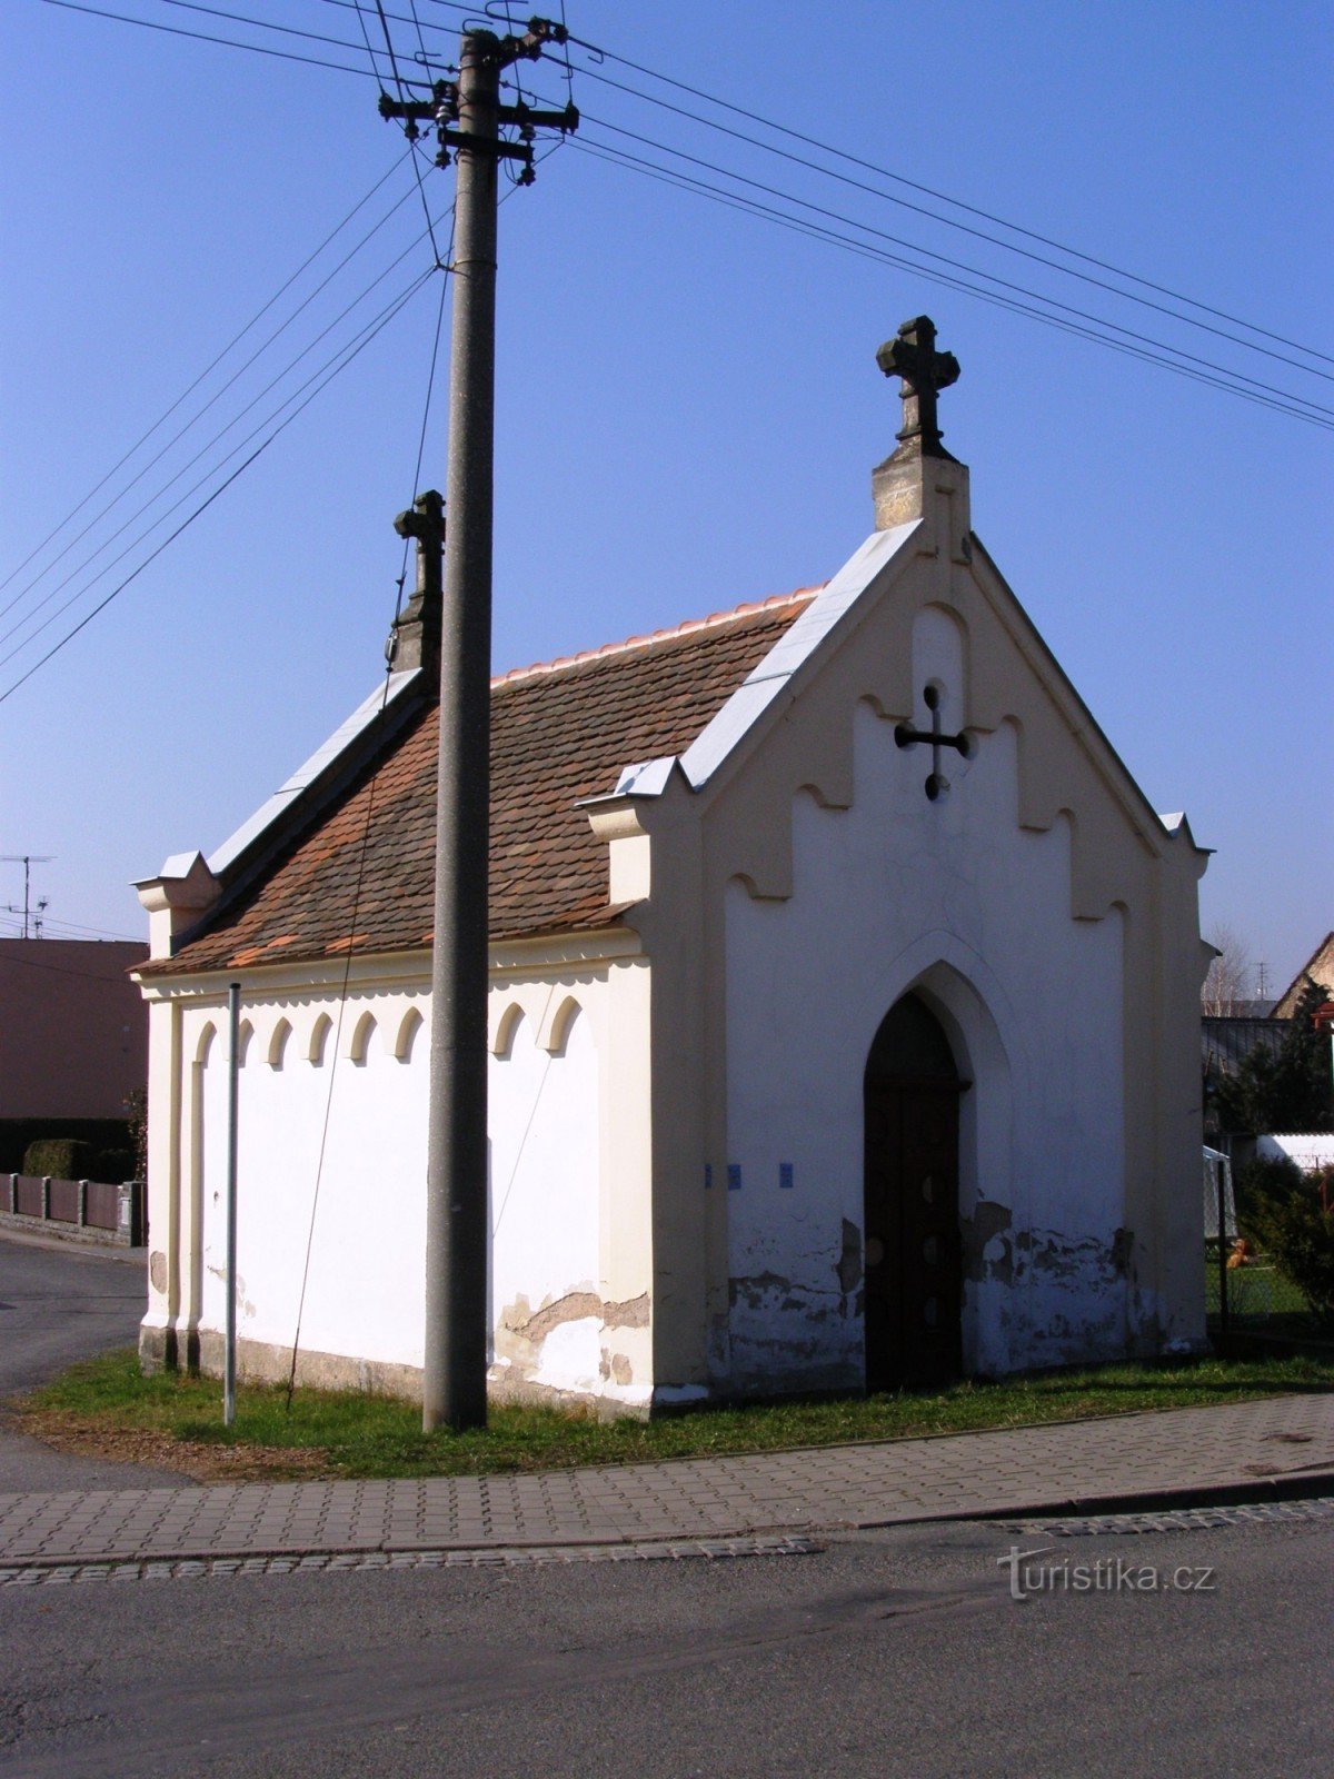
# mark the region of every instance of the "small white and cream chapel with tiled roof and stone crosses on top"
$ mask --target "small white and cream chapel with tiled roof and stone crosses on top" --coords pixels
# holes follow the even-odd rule
[[[923,317],[820,587],[493,681],[494,1395],[646,1414],[1202,1343],[1206,854],[975,535]],[[430,498],[418,502],[430,511]],[[1053,546],[1058,539],[1053,535]],[[420,1393],[439,626],[151,959],[146,1366]]]

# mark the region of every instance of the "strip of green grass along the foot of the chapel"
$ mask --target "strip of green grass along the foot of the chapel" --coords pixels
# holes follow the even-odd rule
[[[235,1427],[224,1429],[215,1379],[142,1377],[133,1352],[116,1352],[73,1366],[16,1413],[52,1443],[197,1475],[425,1477],[719,1457],[1327,1389],[1334,1357],[1193,1359],[966,1382],[936,1395],[695,1409],[656,1421],[496,1407],[482,1432],[423,1434],[420,1411],[386,1397],[299,1389],[288,1413],[283,1389],[245,1386]]]

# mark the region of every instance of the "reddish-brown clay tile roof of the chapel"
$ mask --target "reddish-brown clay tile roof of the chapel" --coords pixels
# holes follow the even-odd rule
[[[623,767],[683,753],[813,591],[491,681],[493,939],[575,932],[623,913],[608,907],[607,845],[578,799],[614,790]],[[142,973],[430,945],[436,719],[423,710],[199,938]]]

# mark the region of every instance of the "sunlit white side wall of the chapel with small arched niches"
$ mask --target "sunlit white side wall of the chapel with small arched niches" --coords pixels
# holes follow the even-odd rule
[[[626,1405],[651,1395],[647,1252],[635,1247],[633,1215],[608,1211],[607,1190],[608,1167],[633,1176],[633,1142],[617,1137],[624,1119],[612,1119],[608,1133],[601,1115],[608,1101],[633,1096],[646,975],[633,959],[571,970],[537,957],[526,970],[510,959],[493,977],[491,1375],[502,1391],[530,1386]],[[153,1254],[141,1345],[149,1361],[199,1354],[215,1368],[226,1311],[224,987],[180,978],[149,994],[158,1034]],[[244,982],[244,1373],[286,1375],[299,1324],[299,1377],[416,1388],[429,1009],[420,971],[377,982],[359,968],[342,1016],[324,984],[279,986],[258,973]]]

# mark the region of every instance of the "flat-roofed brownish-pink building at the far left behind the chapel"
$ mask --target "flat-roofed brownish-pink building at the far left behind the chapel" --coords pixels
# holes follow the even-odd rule
[[[148,1009],[119,939],[0,939],[0,1119],[125,1117],[148,1080]]]

